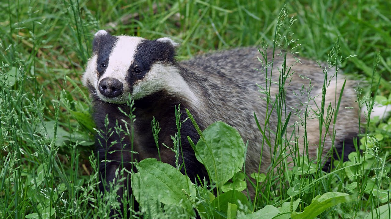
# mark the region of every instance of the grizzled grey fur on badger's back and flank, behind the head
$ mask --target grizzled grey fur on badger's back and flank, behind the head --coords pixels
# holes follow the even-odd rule
[[[266,95],[260,94],[260,89],[256,85],[257,83],[264,88],[266,87],[265,71],[263,69],[264,65],[260,65],[257,57],[261,57],[261,55],[256,48],[240,48],[208,54],[180,63],[184,68],[191,69],[194,74],[192,76],[183,75],[192,89],[202,91],[199,93],[207,96],[207,98],[203,97],[206,104],[202,108],[197,109],[203,118],[200,122],[204,126],[208,126],[216,120],[224,121],[235,127],[240,132],[245,142],[246,140],[249,140],[246,157],[246,171],[248,171],[248,173],[258,171],[259,155],[261,152],[260,142],[262,141],[262,136],[253,117],[253,112],[256,113],[258,121],[262,125],[265,122],[267,110],[266,101],[260,98],[265,97]],[[271,51],[268,51],[267,57],[269,57],[268,59],[270,61],[272,58]],[[288,110],[287,114],[290,109],[299,108],[301,105],[300,101],[306,105],[308,96],[314,97],[314,100],[308,104],[313,108],[313,111],[308,112],[308,114],[311,115],[311,119],[307,122],[307,137],[309,155],[310,157],[316,157],[316,149],[318,148],[317,145],[319,145],[319,119],[314,115],[314,111],[318,111],[316,106],[319,108],[321,106],[322,87],[325,75],[319,65],[314,61],[301,59],[301,64],[295,64],[295,62],[296,59],[288,55],[286,65],[288,68],[293,65],[291,69],[291,73],[293,74],[289,76],[286,83],[287,85],[285,86],[287,91],[285,100]],[[282,64],[283,58],[275,55],[272,74],[273,82],[278,83],[278,78],[280,76],[278,68],[281,69]],[[260,69],[260,71],[256,71],[255,69]],[[334,73],[335,70],[330,69],[328,74],[333,75]],[[270,72],[268,72],[268,74],[270,77]],[[313,86],[313,88],[310,94],[306,92],[306,89],[301,90],[303,85],[304,88],[307,87],[307,90],[310,90],[310,80],[303,79],[299,75],[311,79],[311,86]],[[329,77],[327,80],[329,85],[325,98],[326,107],[331,103],[335,108],[335,98],[337,98],[336,102],[338,102],[344,78],[342,78],[341,75],[338,76],[337,80],[335,80],[336,78],[337,77],[335,76],[333,78]],[[332,79],[331,83],[330,79]],[[276,83],[271,83],[271,104],[273,104],[274,97],[279,92],[279,87]],[[335,143],[332,142],[331,136],[328,134],[323,146],[323,155],[326,155],[333,145],[342,147],[342,145],[338,145],[338,143],[343,141],[345,137],[354,137],[352,136],[352,133],[355,135],[359,133],[359,108],[355,101],[357,95],[353,89],[353,85],[354,83],[352,81],[346,81],[339,113],[337,115],[338,119],[335,124]],[[304,92],[304,94],[301,95],[301,92]],[[298,94],[298,96],[295,94]],[[303,111],[300,116],[303,118],[305,109],[303,106],[301,106],[301,109],[303,109]],[[275,113],[276,109],[274,109],[273,112],[274,113],[272,113],[271,118],[269,119],[269,127],[271,130],[274,129],[275,131],[277,120],[277,115]],[[283,118],[283,122],[284,119],[285,118]],[[289,126],[294,125],[298,120],[298,117],[292,115]],[[302,128],[301,131],[303,132],[303,130],[304,129]],[[323,127],[322,135],[324,135],[324,130],[325,127]],[[332,130],[332,128],[330,128],[330,130]],[[288,127],[287,136],[291,136],[293,131],[294,127]],[[271,145],[274,145],[275,136],[273,132],[270,132],[269,134],[270,136],[268,138],[270,143]],[[301,149],[300,152],[303,152],[302,138],[299,140],[299,146]],[[263,173],[266,172],[266,168],[271,162],[270,154],[269,147],[264,147],[262,157],[263,164],[261,167],[261,172]]]

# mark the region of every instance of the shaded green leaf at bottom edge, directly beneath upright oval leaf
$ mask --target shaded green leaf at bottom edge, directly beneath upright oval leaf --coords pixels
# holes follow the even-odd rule
[[[215,219],[223,219],[224,218],[218,212],[222,212],[225,215],[227,215],[228,203],[235,204],[235,205],[239,206],[239,201],[240,201],[240,203],[242,203],[242,205],[248,206],[249,202],[248,202],[247,197],[243,193],[236,191],[236,190],[230,190],[230,191],[223,193],[223,194],[219,195],[218,197],[216,197],[211,203],[212,207],[215,209],[215,212],[214,212]],[[230,212],[230,214],[232,214],[232,212]]]

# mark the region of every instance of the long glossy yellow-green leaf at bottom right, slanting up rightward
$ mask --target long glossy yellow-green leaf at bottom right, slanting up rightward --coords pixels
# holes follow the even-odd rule
[[[317,195],[312,199],[312,203],[304,208],[301,213],[293,212],[292,219],[312,219],[334,205],[353,201],[353,196],[346,193],[330,192]]]

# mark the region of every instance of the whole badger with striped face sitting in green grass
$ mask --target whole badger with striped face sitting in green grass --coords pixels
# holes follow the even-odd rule
[[[124,133],[112,134],[107,138],[97,136],[99,161],[111,161],[100,162],[100,176],[104,182],[111,182],[116,178],[115,170],[120,165],[131,170],[134,161],[149,157],[175,165],[174,152],[163,147],[163,143],[173,147],[171,136],[177,132],[174,109],[179,104],[181,120],[185,121],[187,118],[185,109],[188,109],[201,130],[216,121],[223,121],[237,129],[244,142],[248,141],[246,173],[258,172],[261,154],[260,171],[267,172],[274,149],[262,147],[262,137],[267,138],[270,145],[274,145],[274,129],[279,115],[264,98],[269,95],[271,99],[275,99],[281,93],[278,70],[284,63],[283,67],[291,68],[292,73],[285,85],[287,113],[282,115],[281,120],[287,119],[289,111],[293,111],[297,117],[304,117],[305,109],[297,110],[303,104],[310,106],[314,115],[314,118],[306,119],[307,138],[290,138],[290,141],[295,141],[300,152],[316,157],[319,139],[324,138],[321,142],[321,155],[325,161],[330,160],[326,156],[332,149],[339,155],[344,154],[343,160],[356,150],[353,139],[360,130],[354,81],[346,81],[341,76],[328,76],[325,80],[325,74],[317,62],[294,58],[292,55],[288,55],[284,62],[282,56],[273,57],[272,51],[267,51],[266,54],[269,60],[273,58],[274,68],[270,72],[269,66],[267,72],[265,69],[269,63],[265,63],[265,60],[260,62],[262,57],[259,58],[260,51],[255,47],[219,51],[178,62],[175,57],[178,45],[169,37],[148,40],[127,35],[113,36],[105,30],[99,30],[95,34],[92,57],[82,81],[93,99],[93,117],[97,129],[108,133],[109,130],[114,130],[115,125],[124,127],[126,122],[132,122],[122,112],[131,110],[127,104],[129,96],[134,101],[135,108],[133,143],[129,135]],[[326,92],[323,106],[330,105],[335,109],[341,98],[334,127],[335,138],[330,133],[332,131],[326,132],[325,128],[322,132],[319,131],[319,116],[316,116],[322,106],[325,81],[328,86],[323,91]],[[267,92],[260,92],[260,87],[268,87]],[[267,120],[268,128],[262,132],[263,136],[255,122],[254,113],[258,116],[258,123],[265,124],[267,112],[271,113]],[[108,125],[105,118],[108,119]],[[159,121],[161,127],[158,136],[160,157],[152,134],[153,118]],[[294,116],[290,118],[286,128],[287,136],[294,135],[297,131],[295,124],[301,124],[299,120]],[[183,155],[179,156],[179,164],[185,162],[187,175],[194,182],[197,175],[203,178],[207,174],[203,165],[195,158],[187,136],[194,143],[199,139],[189,120],[181,127]],[[305,145],[308,145],[307,152],[304,150]],[[104,191],[107,188],[101,185],[100,189]],[[118,191],[120,197],[127,195],[123,191]]]

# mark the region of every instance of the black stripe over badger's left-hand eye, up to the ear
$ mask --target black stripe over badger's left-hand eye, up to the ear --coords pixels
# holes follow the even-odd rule
[[[113,51],[115,44],[117,43],[117,37],[110,34],[100,34],[94,38],[92,42],[93,54],[97,55],[97,71],[98,79],[104,74],[106,67],[109,64],[109,56]],[[102,63],[106,64],[106,67],[102,68]]]

